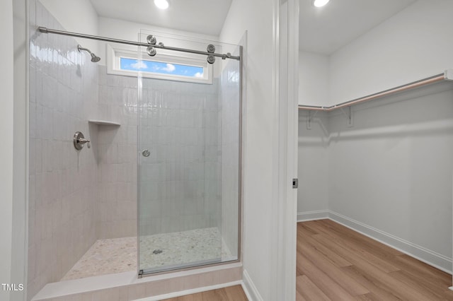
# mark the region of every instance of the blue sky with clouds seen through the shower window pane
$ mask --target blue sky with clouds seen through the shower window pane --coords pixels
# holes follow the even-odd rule
[[[180,64],[162,63],[160,61],[138,61],[137,59],[120,58],[120,69],[130,71],[144,71],[176,76],[203,77],[203,68]]]

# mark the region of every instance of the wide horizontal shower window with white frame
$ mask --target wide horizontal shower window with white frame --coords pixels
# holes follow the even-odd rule
[[[141,72],[145,78],[188,81],[192,83],[212,83],[212,66],[205,59],[184,54],[175,56],[159,51],[152,59],[139,59],[134,47],[111,47],[107,45],[108,73],[138,76]]]

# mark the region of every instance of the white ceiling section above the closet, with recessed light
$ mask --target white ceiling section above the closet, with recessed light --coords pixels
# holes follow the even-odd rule
[[[299,49],[332,54],[415,0],[331,0],[316,8],[300,1]]]

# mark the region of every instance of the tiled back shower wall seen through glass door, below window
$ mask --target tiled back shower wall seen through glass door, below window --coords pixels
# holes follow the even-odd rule
[[[218,86],[143,79],[140,235],[220,227]]]

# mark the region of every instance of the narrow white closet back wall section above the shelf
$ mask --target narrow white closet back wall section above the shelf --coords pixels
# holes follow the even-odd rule
[[[299,105],[325,105],[329,93],[329,57],[299,52]]]

